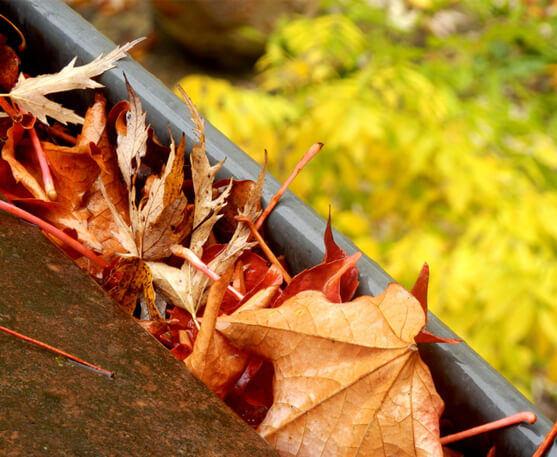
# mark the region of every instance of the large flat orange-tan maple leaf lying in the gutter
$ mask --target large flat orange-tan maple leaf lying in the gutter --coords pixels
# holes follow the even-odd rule
[[[274,402],[258,431],[282,456],[441,456],[443,401],[414,341],[424,324],[420,303],[391,284],[342,304],[301,292],[216,328],[272,361]]]

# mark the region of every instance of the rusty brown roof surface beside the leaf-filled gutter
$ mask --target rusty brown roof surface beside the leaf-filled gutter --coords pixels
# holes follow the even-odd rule
[[[0,215],[0,456],[271,456],[39,231]]]

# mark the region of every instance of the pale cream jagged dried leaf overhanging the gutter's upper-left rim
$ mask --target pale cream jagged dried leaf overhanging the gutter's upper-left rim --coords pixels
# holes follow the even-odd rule
[[[124,46],[117,47],[106,56],[98,56],[92,62],[76,67],[77,57],[58,73],[25,78],[20,73],[19,80],[7,94],[23,110],[32,114],[40,121],[47,123],[47,116],[66,124],[67,122],[81,124],[83,118],[59,103],[46,98],[48,94],[64,92],[73,89],[93,89],[102,84],[91,79],[105,71],[114,68],[115,62],[126,56],[126,52],[143,38],[139,38]]]

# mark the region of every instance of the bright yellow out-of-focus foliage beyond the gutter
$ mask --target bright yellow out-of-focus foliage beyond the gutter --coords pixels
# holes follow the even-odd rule
[[[246,152],[267,149],[279,179],[325,143],[292,189],[324,217],[332,205],[404,285],[427,261],[431,309],[523,392],[534,372],[557,381],[555,138],[501,128],[507,112],[366,46],[342,16],[303,18],[271,40],[257,88],[182,84]]]

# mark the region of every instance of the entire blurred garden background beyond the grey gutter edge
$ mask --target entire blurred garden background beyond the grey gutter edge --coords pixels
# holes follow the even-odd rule
[[[67,0],[557,418],[556,0]]]

